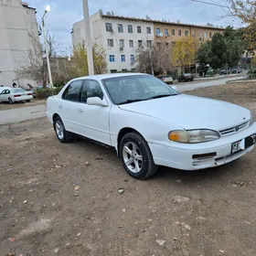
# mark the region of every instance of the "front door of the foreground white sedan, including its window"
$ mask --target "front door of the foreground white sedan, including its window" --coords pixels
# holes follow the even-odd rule
[[[101,100],[106,97],[97,80],[85,80],[81,90],[81,104],[79,110],[80,133],[92,140],[102,144],[111,144],[109,116],[111,104],[109,106],[88,105],[87,99],[99,97]]]

